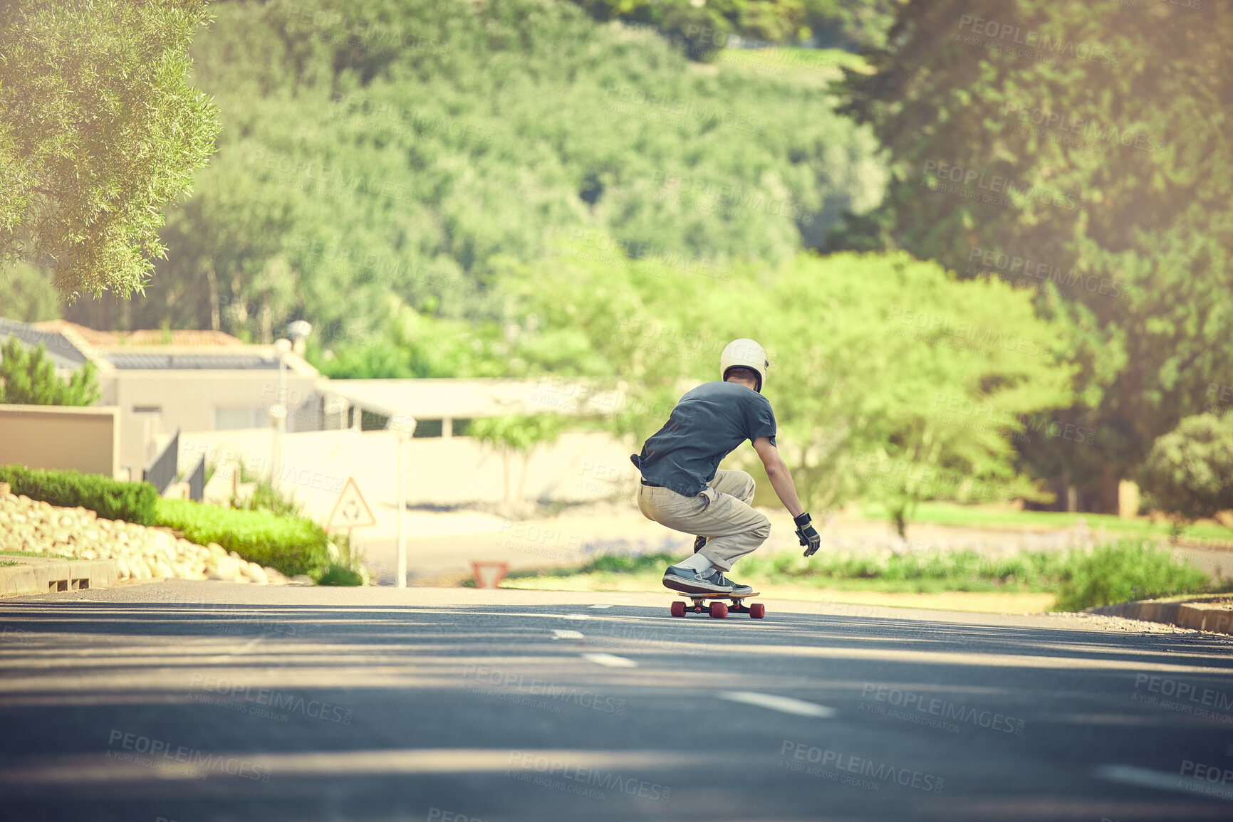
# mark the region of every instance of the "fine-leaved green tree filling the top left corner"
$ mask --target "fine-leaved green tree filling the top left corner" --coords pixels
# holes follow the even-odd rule
[[[0,4],[0,262],[55,270],[75,299],[142,287],[159,207],[218,131],[186,84],[206,0]]]

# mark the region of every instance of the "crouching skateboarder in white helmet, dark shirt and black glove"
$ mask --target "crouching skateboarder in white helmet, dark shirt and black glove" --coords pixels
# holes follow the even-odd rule
[[[761,345],[732,340],[719,356],[723,382],[708,382],[686,393],[663,428],[642,445],[642,452],[630,456],[642,474],[637,489],[642,515],[698,535],[694,555],[663,572],[667,588],[687,594],[752,593],[751,587],[724,576],[771,536],[771,520],[750,507],[753,477],[719,468],[745,440],[753,444],[771,487],[793,515],[805,556],[817,551],[817,531],[774,444],[774,413],[762,396],[769,365]]]

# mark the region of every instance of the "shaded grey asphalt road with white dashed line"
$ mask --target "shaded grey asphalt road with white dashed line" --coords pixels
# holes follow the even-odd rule
[[[1227,637],[670,601],[174,580],[2,600],[0,818],[1233,818]]]

